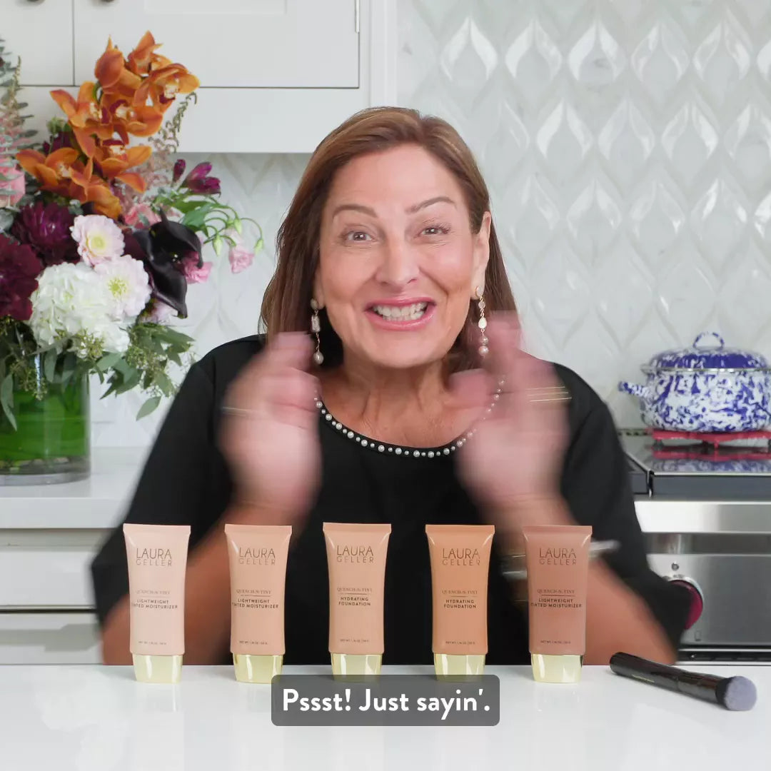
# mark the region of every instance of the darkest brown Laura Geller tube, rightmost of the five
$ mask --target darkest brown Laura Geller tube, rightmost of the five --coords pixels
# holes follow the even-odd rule
[[[586,652],[591,527],[523,527],[530,663],[537,682],[578,682]]]

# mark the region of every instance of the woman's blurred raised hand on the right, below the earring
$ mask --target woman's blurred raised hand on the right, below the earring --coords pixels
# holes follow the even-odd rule
[[[485,417],[461,449],[460,473],[501,526],[517,528],[524,524],[517,521],[518,513],[534,510],[532,503],[559,499],[567,394],[550,365],[521,350],[516,317],[492,318],[487,337],[485,369],[453,377],[460,405]],[[499,387],[500,396],[487,413]]]

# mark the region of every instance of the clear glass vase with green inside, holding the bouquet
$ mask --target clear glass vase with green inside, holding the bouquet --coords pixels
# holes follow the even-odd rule
[[[16,428],[0,410],[0,485],[54,484],[86,479],[91,471],[89,378],[66,385],[43,375],[33,357],[41,393],[15,390]]]

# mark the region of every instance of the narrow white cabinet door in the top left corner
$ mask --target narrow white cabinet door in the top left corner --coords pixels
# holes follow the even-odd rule
[[[0,37],[22,57],[23,85],[74,84],[72,22],[72,0],[0,0]]]

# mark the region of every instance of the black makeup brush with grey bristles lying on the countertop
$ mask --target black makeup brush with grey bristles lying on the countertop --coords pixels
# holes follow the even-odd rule
[[[726,709],[744,711],[755,706],[757,692],[752,680],[736,677],[717,677],[700,672],[650,662],[631,653],[614,653],[611,670],[621,677],[633,678],[678,691],[705,702],[719,704]]]

